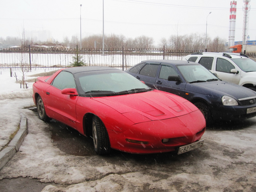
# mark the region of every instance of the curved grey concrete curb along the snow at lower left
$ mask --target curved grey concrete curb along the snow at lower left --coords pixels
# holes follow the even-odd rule
[[[24,138],[28,133],[28,121],[27,118],[21,114],[20,128],[12,141],[0,152],[0,169],[18,152]]]

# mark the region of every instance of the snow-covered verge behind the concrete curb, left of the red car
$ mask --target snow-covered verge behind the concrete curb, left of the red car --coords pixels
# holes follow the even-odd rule
[[[40,72],[45,70],[27,72],[25,80],[34,79],[35,77],[28,76]],[[22,74],[20,70],[12,71],[12,77],[10,77],[10,69],[0,70],[0,149],[8,143],[10,134],[17,129],[22,109],[34,105],[32,99],[34,80],[27,83],[27,89],[23,89],[23,84],[20,88],[19,80],[22,79]]]

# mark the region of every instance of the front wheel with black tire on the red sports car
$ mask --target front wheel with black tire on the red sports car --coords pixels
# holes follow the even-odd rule
[[[108,132],[97,116],[92,118],[92,138],[94,151],[97,154],[105,155],[110,153],[111,148]]]

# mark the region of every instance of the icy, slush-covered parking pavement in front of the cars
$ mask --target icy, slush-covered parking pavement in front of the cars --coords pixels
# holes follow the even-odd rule
[[[181,155],[99,156],[91,138],[42,122],[33,111],[23,114],[28,134],[0,170],[1,192],[256,191],[256,118],[215,123],[203,147]]]

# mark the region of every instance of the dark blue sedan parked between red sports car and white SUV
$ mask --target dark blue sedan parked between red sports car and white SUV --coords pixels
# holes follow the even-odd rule
[[[206,122],[256,116],[256,92],[218,79],[195,62],[147,60],[125,70],[153,89],[179,95],[197,106]]]

